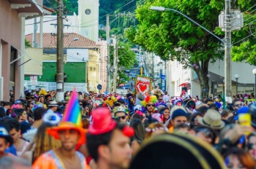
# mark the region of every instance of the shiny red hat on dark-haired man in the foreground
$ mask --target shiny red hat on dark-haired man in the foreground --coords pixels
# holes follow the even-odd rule
[[[100,107],[91,112],[92,125],[89,127],[89,133],[99,135],[108,133],[116,127],[116,122],[111,118],[110,109]]]

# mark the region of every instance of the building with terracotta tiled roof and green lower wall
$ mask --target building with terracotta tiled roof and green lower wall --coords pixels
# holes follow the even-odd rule
[[[32,34],[26,35],[31,42]],[[43,58],[42,76],[38,76],[39,82],[56,82],[56,36],[43,34],[42,39]],[[39,42],[39,34],[37,34]],[[100,79],[100,45],[84,36],[74,33],[64,34],[64,81],[66,83],[84,83],[83,91],[97,91]],[[31,48],[30,48],[31,50]],[[37,50],[37,48],[35,48]],[[26,74],[29,80],[31,74]],[[65,84],[64,84],[65,86]]]

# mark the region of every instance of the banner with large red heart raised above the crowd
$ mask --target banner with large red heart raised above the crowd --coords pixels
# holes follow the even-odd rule
[[[148,95],[152,90],[152,79],[147,76],[137,75],[135,89],[136,93]]]

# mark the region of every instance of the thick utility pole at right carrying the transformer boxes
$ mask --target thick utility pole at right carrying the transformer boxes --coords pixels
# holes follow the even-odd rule
[[[225,0],[225,96],[231,97],[231,24],[230,1]]]

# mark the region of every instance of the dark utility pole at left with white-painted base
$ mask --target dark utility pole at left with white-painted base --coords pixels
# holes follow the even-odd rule
[[[59,10],[57,13],[57,74],[56,91],[57,101],[64,100],[64,44],[63,44],[63,0],[58,2]]]

